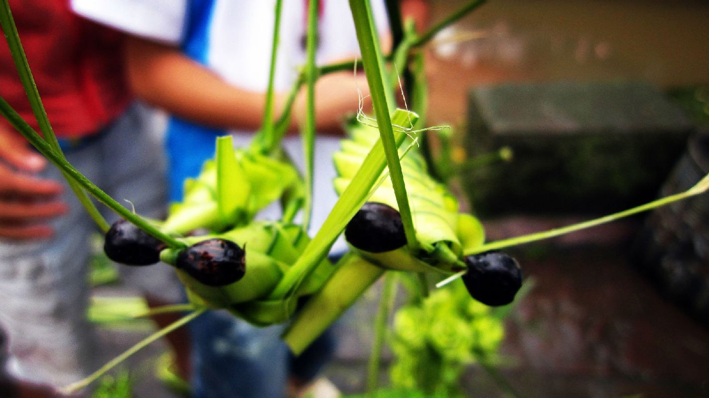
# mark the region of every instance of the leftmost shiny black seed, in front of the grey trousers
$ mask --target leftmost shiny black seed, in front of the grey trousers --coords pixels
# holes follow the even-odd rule
[[[148,266],[160,261],[162,241],[143,232],[126,220],[118,220],[106,232],[104,252],[116,263],[128,266]]]

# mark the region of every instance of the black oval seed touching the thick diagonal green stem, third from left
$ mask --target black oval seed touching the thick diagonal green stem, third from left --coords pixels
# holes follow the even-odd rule
[[[406,244],[401,215],[384,203],[367,202],[345,228],[345,239],[357,249],[382,253]]]

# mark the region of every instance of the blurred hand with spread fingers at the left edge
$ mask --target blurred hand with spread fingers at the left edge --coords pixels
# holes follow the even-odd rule
[[[59,182],[35,176],[45,166],[23,137],[0,125],[0,238],[52,236],[47,222],[64,214],[67,205],[57,198]]]

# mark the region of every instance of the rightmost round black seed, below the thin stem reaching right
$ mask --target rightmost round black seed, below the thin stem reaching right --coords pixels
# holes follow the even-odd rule
[[[517,261],[498,251],[465,257],[468,271],[462,277],[471,297],[485,305],[507,305],[522,287]]]

